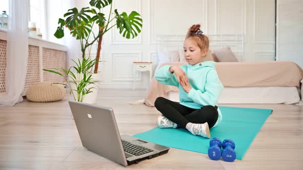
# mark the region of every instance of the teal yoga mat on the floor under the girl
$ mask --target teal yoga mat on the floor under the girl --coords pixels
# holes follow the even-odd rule
[[[232,139],[235,144],[237,159],[242,159],[263,123],[271,114],[269,109],[219,107],[221,123],[211,129],[211,137]],[[185,129],[155,128],[134,135],[137,138],[167,147],[207,154],[210,139],[192,135]]]

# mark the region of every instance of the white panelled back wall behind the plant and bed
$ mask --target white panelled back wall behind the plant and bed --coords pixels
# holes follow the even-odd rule
[[[86,3],[87,2],[87,3]],[[76,1],[77,7],[88,0]],[[135,39],[123,38],[111,29],[103,38],[102,88],[132,86],[132,61],[155,61],[156,34],[186,34],[201,24],[206,34],[244,34],[243,61],[275,59],[275,0],[114,0],[114,7],[143,18],[143,29]],[[109,8],[103,10],[108,17]],[[92,49],[92,56],[96,48]],[[148,72],[137,75],[136,88],[148,86]]]

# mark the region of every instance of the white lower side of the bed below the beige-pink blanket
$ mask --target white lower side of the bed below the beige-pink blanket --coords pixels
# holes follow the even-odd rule
[[[224,87],[218,103],[286,103],[300,102],[299,89],[297,87],[248,87],[228,88]],[[179,92],[168,92],[169,100],[179,102]]]

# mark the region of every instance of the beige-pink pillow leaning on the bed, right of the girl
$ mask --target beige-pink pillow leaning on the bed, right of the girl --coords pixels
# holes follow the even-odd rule
[[[213,58],[216,62],[239,62],[230,47],[213,50]]]

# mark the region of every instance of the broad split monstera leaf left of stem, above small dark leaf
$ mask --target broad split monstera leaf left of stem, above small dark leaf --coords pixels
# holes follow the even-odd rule
[[[74,29],[74,27],[77,27],[82,21],[84,24],[90,23],[91,18],[87,13],[92,13],[88,7],[82,8],[80,12],[78,12],[77,8],[69,9],[68,12],[64,14],[64,17],[67,16],[65,20],[67,27]]]

